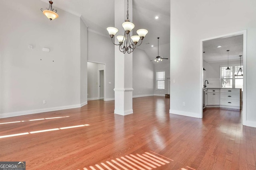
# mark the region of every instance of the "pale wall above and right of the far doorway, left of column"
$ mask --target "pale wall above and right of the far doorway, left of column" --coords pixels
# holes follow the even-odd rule
[[[108,32],[106,31],[106,35]],[[88,61],[105,64],[105,100],[114,100],[115,61],[114,45],[110,37],[88,31]],[[111,82],[111,84],[108,84]]]

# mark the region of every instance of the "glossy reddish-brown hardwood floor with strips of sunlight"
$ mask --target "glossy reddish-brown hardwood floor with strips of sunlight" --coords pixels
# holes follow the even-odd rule
[[[134,98],[134,113],[121,116],[114,101],[93,100],[0,119],[0,161],[26,161],[27,170],[256,170],[256,128],[241,125],[240,110],[206,108],[198,119],[169,107],[169,98]]]

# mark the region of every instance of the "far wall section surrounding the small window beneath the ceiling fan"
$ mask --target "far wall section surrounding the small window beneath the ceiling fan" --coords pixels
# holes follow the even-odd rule
[[[168,80],[167,78],[170,78],[170,61],[164,60],[154,64],[155,71],[154,71],[154,95],[155,96],[165,96],[165,94],[168,94]],[[165,71],[165,90],[156,90],[156,72],[157,71]]]

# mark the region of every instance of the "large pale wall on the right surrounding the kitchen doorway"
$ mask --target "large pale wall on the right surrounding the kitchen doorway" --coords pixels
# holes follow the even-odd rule
[[[200,41],[247,29],[246,124],[256,127],[255,6],[254,0],[171,0],[170,76],[176,83],[171,80],[170,113],[201,115]]]

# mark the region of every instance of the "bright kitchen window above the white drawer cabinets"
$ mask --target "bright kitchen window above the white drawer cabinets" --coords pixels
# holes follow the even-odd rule
[[[243,91],[243,76],[235,76],[240,68],[240,65],[229,66],[230,70],[226,70],[227,66],[220,66],[221,87],[222,88],[242,88]],[[243,70],[243,66],[241,66]],[[238,75],[240,75],[241,70]]]

